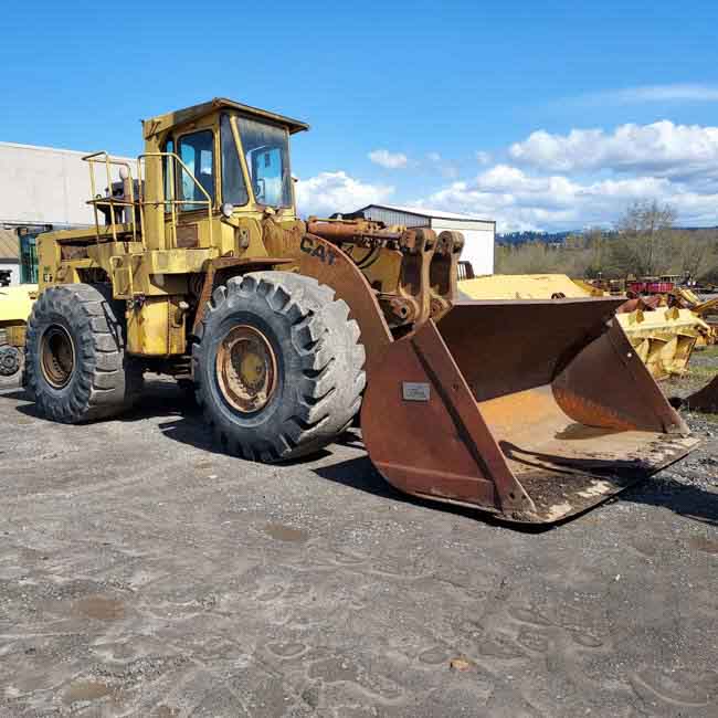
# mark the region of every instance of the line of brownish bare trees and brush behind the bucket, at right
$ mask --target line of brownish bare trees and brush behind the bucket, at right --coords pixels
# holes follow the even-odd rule
[[[634,202],[610,230],[590,228],[559,242],[499,242],[495,271],[606,279],[675,274],[718,283],[718,228],[680,229],[675,222],[669,204]]]

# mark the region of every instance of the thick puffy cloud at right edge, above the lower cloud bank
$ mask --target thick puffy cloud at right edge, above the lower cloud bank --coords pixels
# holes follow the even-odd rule
[[[603,129],[572,129],[553,135],[540,129],[510,146],[509,155],[543,170],[576,172],[610,169],[662,177],[688,177],[718,172],[718,127],[674,125],[621,125]]]

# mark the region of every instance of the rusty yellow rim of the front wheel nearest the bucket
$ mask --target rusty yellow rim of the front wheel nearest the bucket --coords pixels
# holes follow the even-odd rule
[[[256,328],[230,329],[217,351],[217,377],[230,405],[242,413],[260,411],[276,389],[277,362],[267,338]]]

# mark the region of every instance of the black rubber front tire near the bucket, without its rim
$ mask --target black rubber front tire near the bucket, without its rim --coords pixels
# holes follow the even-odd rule
[[[261,314],[281,315],[300,367],[291,413],[272,431],[256,435],[232,425],[213,405],[210,389],[198,380],[211,376],[200,369],[211,363],[207,346],[215,328],[223,317],[250,305]],[[231,278],[212,293],[198,338],[192,347],[197,401],[220,443],[244,458],[274,463],[316,452],[334,441],[359,411],[366,383],[359,326],[349,318],[347,303],[312,277],[256,272]]]

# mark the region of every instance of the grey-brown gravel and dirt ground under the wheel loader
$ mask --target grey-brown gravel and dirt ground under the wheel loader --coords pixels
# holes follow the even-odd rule
[[[685,461],[521,531],[357,433],[215,453],[173,384],[89,426],[0,393],[0,716],[716,716],[718,416],[686,418]]]

